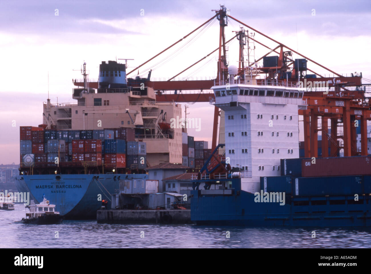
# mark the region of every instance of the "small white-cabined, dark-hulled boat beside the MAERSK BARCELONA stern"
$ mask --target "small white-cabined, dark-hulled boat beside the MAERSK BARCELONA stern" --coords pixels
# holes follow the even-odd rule
[[[30,205],[26,206],[29,212],[26,212],[26,218],[22,218],[25,224],[60,224],[63,216],[55,211],[55,204],[49,204],[45,196],[40,204],[35,204],[31,200]]]

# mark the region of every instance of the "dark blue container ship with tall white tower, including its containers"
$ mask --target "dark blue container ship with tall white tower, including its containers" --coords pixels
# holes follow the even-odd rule
[[[257,84],[253,73],[236,74],[230,67],[229,79],[212,87],[212,103],[224,111],[225,143],[193,176],[191,220],[198,225],[370,226],[371,156],[299,158],[298,111],[308,107],[307,90]]]

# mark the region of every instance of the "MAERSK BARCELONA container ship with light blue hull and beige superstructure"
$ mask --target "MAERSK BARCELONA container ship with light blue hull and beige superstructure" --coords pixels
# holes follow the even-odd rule
[[[89,87],[86,63],[82,74],[84,86],[72,90],[77,103],[48,98],[43,124],[20,127],[16,185],[35,203],[47,196],[66,219],[95,219],[120,183],[144,184],[148,166],[183,161],[181,128],[169,126],[180,104],[156,102],[147,78],[127,78],[117,61],[99,65],[98,88]]]

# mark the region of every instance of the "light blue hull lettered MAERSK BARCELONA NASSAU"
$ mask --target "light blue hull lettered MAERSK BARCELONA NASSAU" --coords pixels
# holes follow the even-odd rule
[[[40,203],[43,195],[56,205],[56,211],[68,220],[96,219],[102,200],[108,200],[119,188],[119,180],[148,178],[147,174],[58,174],[16,176],[16,186],[29,192],[30,200]],[[99,196],[101,199],[98,199]]]

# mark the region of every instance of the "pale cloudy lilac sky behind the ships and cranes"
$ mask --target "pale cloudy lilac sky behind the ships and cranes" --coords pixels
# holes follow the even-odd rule
[[[52,103],[73,102],[72,79],[82,78],[84,61],[91,80],[98,78],[101,61],[134,59],[128,61],[131,70],[204,23],[219,4],[236,19],[337,73],[362,72],[371,79],[371,1],[1,1],[0,164],[19,163],[19,126],[42,123],[48,73]],[[230,19],[226,40],[239,28]],[[255,38],[276,46],[258,34]],[[172,77],[218,44],[219,25],[213,21],[139,69],[139,75],[146,76],[154,66],[151,80]],[[267,53],[255,46],[256,59]],[[236,40],[228,45],[228,61],[238,65]],[[312,63],[308,67],[329,74]],[[215,76],[215,54],[180,75]],[[188,134],[211,142],[213,106],[196,103],[188,112],[190,118],[202,117],[201,131],[189,129]]]

